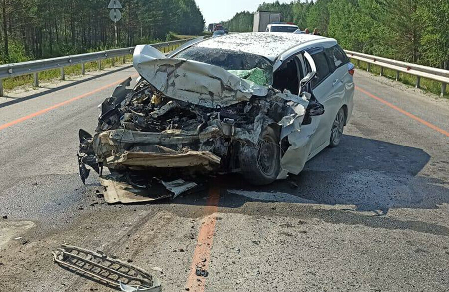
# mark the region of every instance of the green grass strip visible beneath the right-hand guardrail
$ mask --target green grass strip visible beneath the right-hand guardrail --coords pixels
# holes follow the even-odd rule
[[[366,71],[368,68],[368,63],[360,61],[360,66],[357,66],[357,60],[351,59],[351,62],[356,65],[357,69]],[[381,72],[381,67],[371,64],[370,72],[379,75]],[[388,79],[396,80],[396,71],[384,68],[383,76]],[[400,72],[398,81],[414,87],[416,84],[416,76]],[[438,94],[440,96],[441,82],[421,77],[420,88],[425,91]],[[446,94],[444,97],[449,98],[449,86],[446,86]]]

